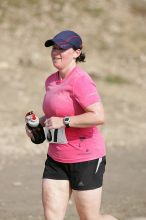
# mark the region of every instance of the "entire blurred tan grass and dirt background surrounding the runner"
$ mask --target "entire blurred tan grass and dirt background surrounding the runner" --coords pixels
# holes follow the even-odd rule
[[[24,115],[43,114],[44,82],[54,71],[44,42],[67,29],[83,39],[81,66],[106,113],[102,211],[146,218],[146,1],[0,0],[0,219],[43,219],[47,143],[30,142]],[[73,201],[66,219],[78,219]]]

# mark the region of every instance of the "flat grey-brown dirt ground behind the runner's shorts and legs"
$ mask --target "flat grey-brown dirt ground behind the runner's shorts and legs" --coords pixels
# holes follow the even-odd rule
[[[146,218],[145,153],[145,147],[108,149],[103,213],[111,213],[119,220]],[[1,165],[1,220],[43,220],[41,176],[45,157],[45,154],[15,160],[8,157]],[[65,219],[79,219],[73,200],[68,204]]]

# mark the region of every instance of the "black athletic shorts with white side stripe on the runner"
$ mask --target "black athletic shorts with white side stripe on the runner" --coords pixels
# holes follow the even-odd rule
[[[102,186],[106,157],[79,163],[60,163],[47,156],[43,179],[69,180],[74,190],[90,190]]]

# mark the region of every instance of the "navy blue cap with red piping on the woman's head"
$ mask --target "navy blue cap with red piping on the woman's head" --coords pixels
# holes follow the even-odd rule
[[[54,38],[47,40],[45,42],[45,47],[53,46],[57,44],[62,49],[82,49],[82,39],[81,37],[75,33],[74,31],[62,31],[57,34]]]

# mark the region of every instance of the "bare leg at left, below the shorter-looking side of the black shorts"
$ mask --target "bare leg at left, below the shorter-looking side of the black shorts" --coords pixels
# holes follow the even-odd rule
[[[63,220],[70,195],[69,181],[43,179],[42,202],[45,220]]]

